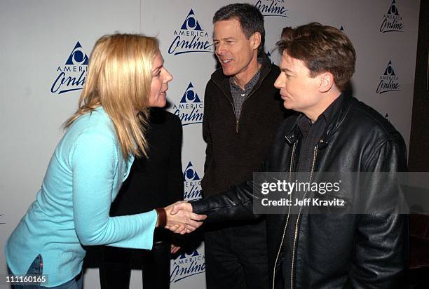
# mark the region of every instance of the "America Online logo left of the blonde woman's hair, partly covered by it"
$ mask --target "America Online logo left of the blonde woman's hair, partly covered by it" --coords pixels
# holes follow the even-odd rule
[[[63,66],[58,66],[57,79],[50,88],[51,93],[68,93],[83,88],[88,68],[88,55],[83,52],[81,43],[77,41],[69,58]]]

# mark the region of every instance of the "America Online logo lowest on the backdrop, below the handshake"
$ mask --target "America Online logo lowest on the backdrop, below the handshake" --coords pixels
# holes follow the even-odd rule
[[[205,257],[198,250],[179,255],[170,268],[170,283],[176,283],[191,276],[205,272]]]

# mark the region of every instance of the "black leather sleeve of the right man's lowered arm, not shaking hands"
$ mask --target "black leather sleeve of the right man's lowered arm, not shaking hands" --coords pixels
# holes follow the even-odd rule
[[[407,170],[405,146],[388,140],[374,153],[367,172],[392,173]],[[376,174],[375,174],[376,175]],[[382,199],[395,199],[394,182],[372,180],[372,191]],[[366,195],[369,196],[369,195]],[[378,197],[377,197],[378,198]],[[396,288],[407,263],[407,215],[397,214],[393,207],[366,212],[357,221],[357,236],[352,264],[345,288]]]

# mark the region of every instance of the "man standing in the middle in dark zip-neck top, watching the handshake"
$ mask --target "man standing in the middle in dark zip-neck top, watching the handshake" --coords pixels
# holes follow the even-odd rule
[[[250,4],[231,4],[214,15],[213,42],[222,68],[205,89],[203,137],[207,142],[203,196],[225,191],[252,177],[268,155],[283,119],[280,69],[263,51],[264,17]],[[205,227],[207,288],[268,285],[265,220]]]

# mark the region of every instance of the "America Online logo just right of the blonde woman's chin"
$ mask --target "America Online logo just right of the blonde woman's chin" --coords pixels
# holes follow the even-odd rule
[[[182,126],[203,122],[204,103],[200,100],[191,82],[180,102],[173,105],[172,108],[175,109],[174,114],[179,116],[182,121]]]

